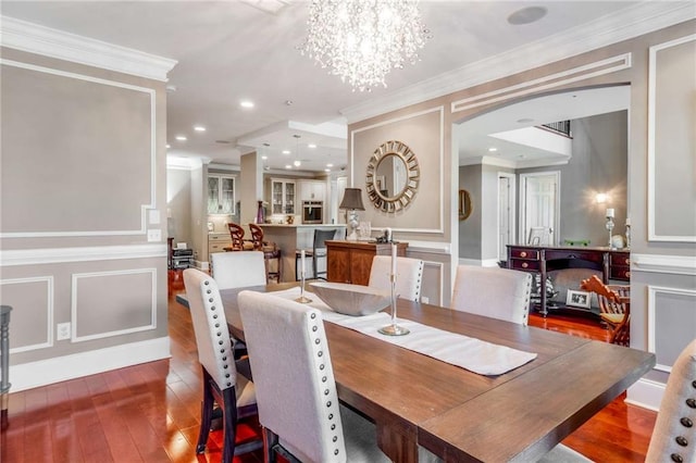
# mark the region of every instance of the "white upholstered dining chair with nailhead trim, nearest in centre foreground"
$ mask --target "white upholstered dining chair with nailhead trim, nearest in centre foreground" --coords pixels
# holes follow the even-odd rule
[[[387,462],[375,426],[339,406],[319,310],[268,293],[238,297],[264,427],[265,461]]]

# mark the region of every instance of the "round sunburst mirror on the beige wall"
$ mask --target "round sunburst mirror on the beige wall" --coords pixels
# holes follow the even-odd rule
[[[396,140],[384,142],[368,163],[368,198],[383,212],[401,211],[415,197],[420,177],[418,159],[407,145]]]

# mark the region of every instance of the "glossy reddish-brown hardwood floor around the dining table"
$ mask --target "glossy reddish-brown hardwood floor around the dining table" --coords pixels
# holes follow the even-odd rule
[[[190,315],[172,291],[169,327],[172,358],[10,395],[10,427],[2,433],[0,462],[220,462],[222,431],[208,451],[195,452],[200,422],[200,365]],[[608,338],[596,322],[554,315],[530,324],[597,340]],[[619,397],[563,442],[596,462],[642,462],[656,413]],[[240,438],[258,430],[247,423]],[[261,462],[260,451],[236,456]]]

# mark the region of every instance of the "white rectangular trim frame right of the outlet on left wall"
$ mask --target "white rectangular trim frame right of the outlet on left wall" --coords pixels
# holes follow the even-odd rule
[[[150,323],[148,325],[133,326],[129,328],[117,329],[112,331],[102,331],[87,336],[78,336],[78,321],[79,316],[77,313],[77,302],[79,300],[78,293],[78,280],[85,278],[95,278],[95,277],[104,277],[104,276],[119,276],[119,275],[140,275],[146,274],[150,275]],[[152,329],[157,329],[157,268],[129,268],[122,271],[110,271],[110,272],[90,272],[90,273],[75,273],[73,274],[73,284],[72,284],[72,293],[71,293],[71,320],[72,323],[72,333],[71,333],[71,342],[82,342],[82,341],[90,341],[94,339],[103,339],[110,338],[113,336],[122,336],[129,335],[133,333],[139,331],[149,331]]]

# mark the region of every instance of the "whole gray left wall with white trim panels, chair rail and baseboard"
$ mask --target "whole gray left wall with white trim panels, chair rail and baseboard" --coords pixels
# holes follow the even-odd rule
[[[2,58],[0,302],[14,308],[13,390],[169,356],[164,83]],[[70,324],[67,339],[58,324]]]

